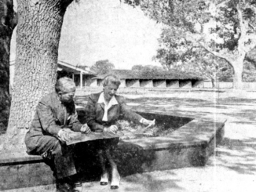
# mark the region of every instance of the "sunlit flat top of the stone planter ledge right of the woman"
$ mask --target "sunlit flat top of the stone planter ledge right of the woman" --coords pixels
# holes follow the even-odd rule
[[[144,150],[163,150],[169,148],[206,147],[218,131],[225,125],[225,121],[193,120],[168,136],[130,139],[129,142],[142,147]]]

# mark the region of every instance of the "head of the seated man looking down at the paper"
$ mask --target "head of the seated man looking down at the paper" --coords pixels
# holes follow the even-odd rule
[[[75,82],[71,78],[60,78],[55,85],[55,91],[62,103],[71,103],[75,97]]]

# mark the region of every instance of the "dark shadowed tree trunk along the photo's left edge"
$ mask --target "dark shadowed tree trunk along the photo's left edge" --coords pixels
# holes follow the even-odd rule
[[[9,50],[16,13],[12,0],[0,3],[0,133],[5,132],[9,118]]]

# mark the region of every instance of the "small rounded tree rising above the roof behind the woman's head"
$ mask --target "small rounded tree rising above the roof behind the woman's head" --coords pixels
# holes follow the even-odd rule
[[[90,71],[93,71],[95,74],[107,74],[114,68],[115,65],[108,60],[99,60],[90,67]]]

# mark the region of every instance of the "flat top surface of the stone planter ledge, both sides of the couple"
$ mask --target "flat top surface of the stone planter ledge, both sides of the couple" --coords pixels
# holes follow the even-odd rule
[[[144,110],[137,110],[137,112],[146,113]],[[152,113],[147,113],[152,114]],[[165,114],[176,116],[172,113],[157,112],[157,114]],[[178,115],[181,118],[188,118],[188,115]],[[216,121],[214,118],[195,118],[181,126],[174,132],[170,132],[167,136],[150,137],[142,139],[127,139],[122,143],[133,143],[143,150],[163,150],[169,148],[188,148],[188,147],[206,147],[214,136],[225,125],[225,119]],[[16,165],[26,163],[39,163],[42,158],[38,155],[28,155],[26,153],[19,153],[13,151],[6,151],[0,156],[0,166]]]

